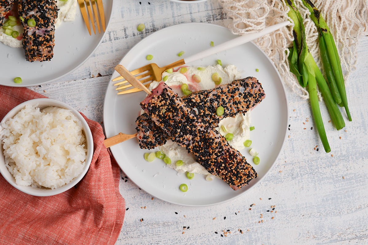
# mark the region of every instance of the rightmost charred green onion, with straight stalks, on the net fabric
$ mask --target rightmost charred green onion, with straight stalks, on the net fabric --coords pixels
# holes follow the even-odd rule
[[[348,108],[346,88],[339,53],[337,52],[335,41],[330,29],[323,19],[321,12],[314,6],[310,0],[302,0],[305,7],[311,12],[311,19],[318,28],[319,49],[326,77],[330,84],[330,90],[337,104],[345,107],[348,120],[351,121],[351,115]]]

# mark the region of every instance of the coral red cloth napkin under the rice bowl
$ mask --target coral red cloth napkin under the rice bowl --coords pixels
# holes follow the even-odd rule
[[[27,88],[0,85],[0,120],[16,105],[35,98],[44,96]],[[95,150],[91,167],[74,188],[35,197],[18,191],[0,175],[0,244],[116,243],[125,214],[120,169],[103,145],[101,125],[85,119]]]

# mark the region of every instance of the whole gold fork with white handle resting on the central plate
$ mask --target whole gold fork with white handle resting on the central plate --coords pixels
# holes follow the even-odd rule
[[[185,63],[190,63],[193,61],[197,61],[199,59],[203,59],[205,57],[208,57],[210,55],[213,54],[217,54],[218,52],[221,51],[225,51],[228,50],[230,48],[233,47],[237,47],[241,44],[247,43],[249,41],[255,40],[259,37],[262,37],[266,34],[269,34],[277,29],[280,29],[284,26],[287,25],[291,25],[290,21],[284,21],[281,23],[278,23],[276,25],[272,25],[272,26],[268,26],[265,29],[263,29],[260,32],[256,32],[256,33],[249,33],[249,34],[245,34],[244,36],[239,36],[239,37],[235,37],[234,39],[231,39],[229,41],[226,41],[222,44],[219,45],[215,45],[214,47],[211,47],[207,50],[201,51],[198,54],[189,56],[188,58],[185,59],[181,59],[179,61],[176,61],[174,63],[171,63],[170,65],[164,66],[164,67],[159,67],[157,64],[155,63],[151,63],[148,64],[146,66],[140,67],[138,69],[135,69],[133,71],[131,71],[130,73],[135,76],[135,78],[137,78],[142,84],[145,85],[145,87],[148,87],[150,83],[152,83],[152,81],[161,81],[162,80],[162,73],[168,69],[180,66],[180,65],[184,65]],[[137,76],[136,76],[137,75]],[[126,77],[125,77],[126,78]],[[112,81],[118,81],[124,79],[123,76],[119,76],[114,78]],[[127,81],[121,81],[118,82],[116,84],[114,84],[114,86],[118,86],[121,85],[119,87],[116,88],[116,90],[120,90],[120,89],[125,89],[125,88],[130,88],[132,87],[131,84],[125,85],[127,84]],[[141,91],[142,89],[139,88],[131,88],[131,89],[126,89],[124,91],[118,92],[118,94],[128,94],[128,93],[132,93],[132,92],[137,92],[137,91]]]

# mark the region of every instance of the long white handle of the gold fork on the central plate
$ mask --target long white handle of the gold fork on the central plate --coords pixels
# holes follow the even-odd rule
[[[203,58],[208,57],[210,55],[217,54],[221,51],[225,51],[225,50],[228,50],[230,48],[237,47],[241,44],[248,43],[249,41],[255,40],[259,37],[262,37],[262,36],[264,36],[268,33],[271,33],[275,30],[278,30],[278,29],[280,29],[284,26],[290,25],[290,24],[291,24],[290,21],[285,21],[285,22],[282,22],[282,23],[278,23],[276,25],[268,26],[260,32],[249,33],[249,34],[245,34],[244,36],[236,37],[236,38],[231,39],[229,41],[226,41],[222,44],[215,45],[215,46],[213,46],[213,47],[211,47],[207,50],[201,51],[198,54],[189,56],[188,58],[185,58],[184,61],[185,61],[186,64],[188,64],[192,61],[198,61],[199,59],[203,59]]]

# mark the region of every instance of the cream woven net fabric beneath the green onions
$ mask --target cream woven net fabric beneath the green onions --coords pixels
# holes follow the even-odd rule
[[[367,0],[311,0],[321,11],[334,37],[342,63],[345,81],[355,69],[357,47],[362,36],[368,35],[368,1]],[[219,0],[230,23],[227,26],[233,34],[258,32],[266,26],[287,21],[289,7],[284,0]],[[317,65],[321,67],[318,47],[318,32],[314,22],[309,18],[309,10],[301,0],[294,0],[304,19],[305,32],[309,50]],[[291,21],[292,22],[292,21]],[[289,70],[288,48],[292,46],[292,27],[281,28],[268,34],[256,43],[275,63],[284,83],[302,98],[308,98],[308,91],[302,88],[294,74]]]

